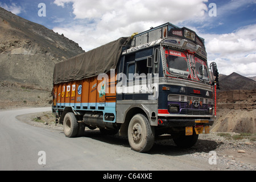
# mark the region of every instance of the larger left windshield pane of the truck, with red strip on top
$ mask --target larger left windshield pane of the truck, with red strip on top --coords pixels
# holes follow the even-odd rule
[[[188,76],[188,63],[184,53],[165,49],[168,72],[175,75]]]

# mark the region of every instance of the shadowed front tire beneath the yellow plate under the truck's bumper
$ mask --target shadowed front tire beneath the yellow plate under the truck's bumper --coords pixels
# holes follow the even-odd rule
[[[196,131],[193,130],[193,135],[185,135],[185,132],[182,132],[178,137],[174,138],[174,143],[180,148],[190,148],[196,144],[198,136]]]

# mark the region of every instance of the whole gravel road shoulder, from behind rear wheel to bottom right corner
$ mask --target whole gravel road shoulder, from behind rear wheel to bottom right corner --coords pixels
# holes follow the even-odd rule
[[[18,119],[32,126],[63,131],[63,125],[55,123],[55,115],[51,112],[20,115]],[[89,129],[86,128],[86,130]],[[118,139],[119,135],[116,134],[112,137]],[[226,132],[201,134],[195,146],[189,149],[177,148],[172,139],[158,139],[150,153],[159,152],[159,148],[162,154],[167,153],[170,146],[174,146],[172,150],[176,150],[175,152],[179,152],[181,155],[205,160],[208,160],[210,152],[214,151],[217,155],[217,163],[224,164],[226,170],[256,170],[256,135],[253,134]],[[216,167],[215,170],[221,169]]]

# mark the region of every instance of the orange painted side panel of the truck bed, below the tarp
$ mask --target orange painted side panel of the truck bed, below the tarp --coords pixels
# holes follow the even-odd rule
[[[53,105],[64,106],[65,104],[85,106],[86,103],[115,102],[116,84],[115,74],[108,74],[102,80],[98,77],[86,78],[80,81],[72,81],[53,85]],[[82,105],[83,104],[83,105]],[[89,109],[89,108],[88,108]]]

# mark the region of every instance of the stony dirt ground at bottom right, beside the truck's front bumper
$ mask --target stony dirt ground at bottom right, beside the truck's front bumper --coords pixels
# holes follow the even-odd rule
[[[201,134],[192,150],[195,150],[193,156],[199,158],[209,158],[210,151],[216,152],[218,162],[225,163],[226,169],[256,170],[255,135],[226,132]]]

